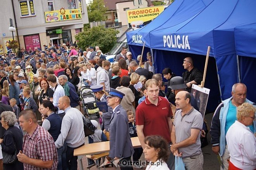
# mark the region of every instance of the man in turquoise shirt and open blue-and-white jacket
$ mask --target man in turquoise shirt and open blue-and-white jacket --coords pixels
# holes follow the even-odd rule
[[[230,158],[228,146],[226,143],[226,134],[229,127],[234,124],[237,120],[237,107],[242,105],[244,102],[252,104],[256,107],[255,103],[249,101],[246,98],[247,88],[243,83],[236,83],[232,86],[232,97],[222,101],[220,105],[216,108],[213,120],[211,122],[211,144],[213,145],[213,152],[222,157],[223,170],[227,170]],[[253,125],[248,126],[250,130],[256,132],[256,120],[254,119]]]

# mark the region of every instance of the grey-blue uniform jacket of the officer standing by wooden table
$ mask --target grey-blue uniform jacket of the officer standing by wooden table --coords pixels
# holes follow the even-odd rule
[[[118,105],[112,114],[109,125],[110,158],[127,158],[134,153],[128,129],[129,125],[126,111],[121,105]]]

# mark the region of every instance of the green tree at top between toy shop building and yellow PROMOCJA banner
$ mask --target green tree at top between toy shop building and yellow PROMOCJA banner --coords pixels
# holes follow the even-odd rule
[[[105,12],[107,8],[104,6],[104,0],[92,0],[87,6],[89,22],[105,21]]]

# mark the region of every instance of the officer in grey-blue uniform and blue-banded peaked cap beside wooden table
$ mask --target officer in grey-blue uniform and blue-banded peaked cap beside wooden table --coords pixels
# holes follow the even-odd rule
[[[120,105],[123,96],[125,96],[124,93],[113,88],[110,88],[109,95],[107,96],[107,105],[113,109],[109,125],[109,158],[114,160],[122,158],[119,161],[121,163],[121,170],[132,170],[132,165],[129,165],[128,162],[130,163],[134,150],[128,130],[128,117],[126,111]]]

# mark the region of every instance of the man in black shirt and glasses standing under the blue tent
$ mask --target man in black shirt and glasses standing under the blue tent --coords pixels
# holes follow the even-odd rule
[[[184,58],[183,67],[187,71],[183,72],[182,77],[187,85],[186,91],[190,93],[192,84],[201,84],[203,78],[202,71],[194,67],[191,57]]]

